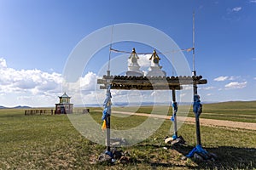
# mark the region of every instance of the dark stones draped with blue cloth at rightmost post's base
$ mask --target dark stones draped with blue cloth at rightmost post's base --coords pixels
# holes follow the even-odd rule
[[[186,155],[186,157],[195,158],[196,160],[199,161],[217,160],[217,156],[215,154],[207,152],[207,150],[204,150],[200,144],[197,144],[195,148],[191,150],[188,155]]]

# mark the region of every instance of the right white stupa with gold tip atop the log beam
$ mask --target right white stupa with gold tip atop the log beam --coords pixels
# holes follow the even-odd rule
[[[162,66],[159,65],[159,56],[154,49],[153,54],[150,57],[151,65],[147,74],[147,77],[166,77],[166,71],[162,71]]]

